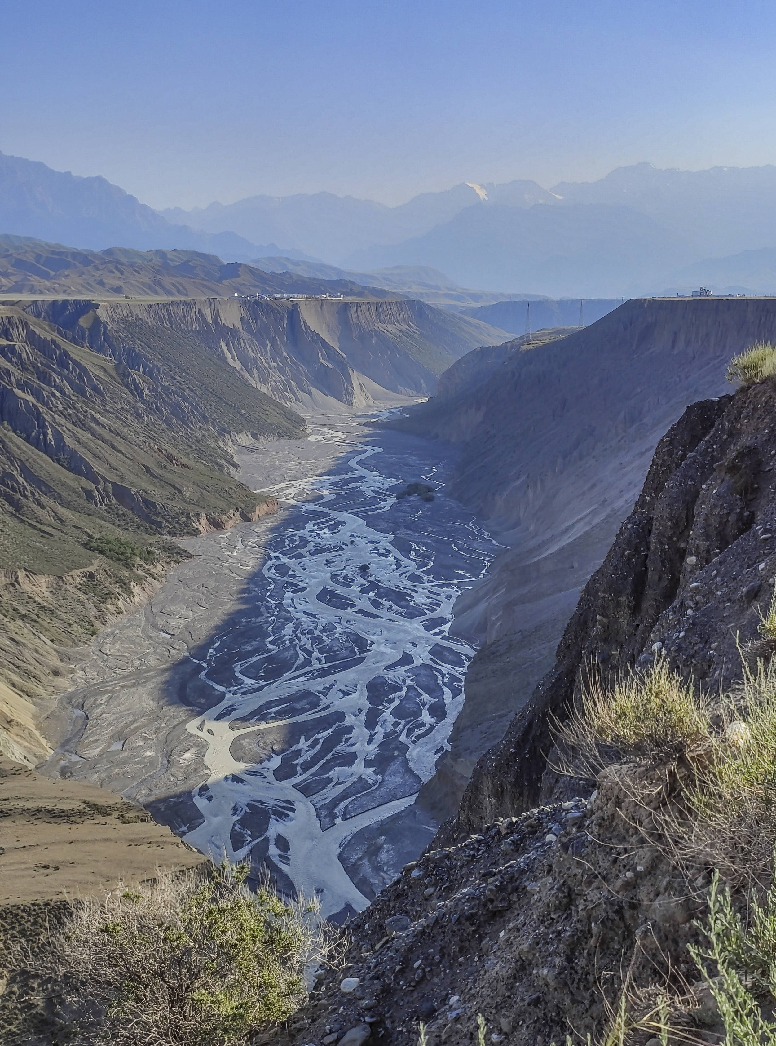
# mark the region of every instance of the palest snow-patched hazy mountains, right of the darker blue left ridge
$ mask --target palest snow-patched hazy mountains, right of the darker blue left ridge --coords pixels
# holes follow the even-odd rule
[[[210,223],[207,227],[225,227],[228,214],[243,215],[252,208],[258,208],[267,221],[270,213],[279,221],[278,215],[287,209],[301,212],[321,196],[277,199],[272,201],[272,208],[271,198],[252,198],[231,205],[234,210],[206,208]],[[433,197],[439,197],[443,206],[432,208]],[[372,215],[368,221],[363,221],[364,201],[346,204],[347,200],[352,198],[342,199],[337,206],[342,211],[350,207],[352,215],[348,221],[356,224],[357,213],[362,217],[362,244],[343,256],[338,251],[345,240],[337,240],[336,247],[335,240],[325,242],[325,237],[321,238],[323,225],[319,224],[314,253],[327,262],[357,271],[426,266],[440,269],[466,287],[503,287],[509,292],[588,297],[607,291],[613,295],[642,294],[649,288],[660,292],[675,283],[693,281],[694,272],[682,275],[678,267],[776,244],[773,166],[682,172],[640,163],[618,168],[595,182],[561,182],[550,190],[535,182],[471,183],[448,194],[424,194],[400,207],[367,209]],[[511,235],[506,238],[513,245],[511,251],[504,250],[498,221],[486,217],[490,208],[501,207],[538,211],[529,221],[507,220]],[[590,212],[586,210],[589,207],[604,208],[598,212],[602,226],[598,236],[591,228]],[[560,243],[558,220],[548,213],[550,208],[567,210]],[[197,224],[203,213],[191,213],[186,220],[190,218]],[[375,213],[380,215],[378,221],[372,220]],[[182,220],[183,212],[178,218]],[[320,213],[317,221],[323,218]],[[387,228],[389,218],[393,224]],[[413,221],[415,228],[403,240],[402,232],[408,232]],[[449,229],[451,223],[454,225]],[[278,234],[273,225],[253,228],[256,233],[272,233],[274,237]],[[442,228],[447,233],[440,231]],[[295,235],[297,229],[293,223],[282,226],[288,236]],[[564,237],[568,237],[568,244]],[[554,250],[543,257],[543,245],[550,242]],[[530,259],[537,246],[544,264],[533,270]],[[599,262],[601,254],[607,256],[606,264]],[[495,265],[488,264],[493,257],[498,258]],[[724,265],[721,268],[716,280],[721,289],[740,285],[739,279],[725,275]],[[587,279],[581,278],[585,273]],[[741,287],[774,290],[776,283],[763,286],[760,279]]]

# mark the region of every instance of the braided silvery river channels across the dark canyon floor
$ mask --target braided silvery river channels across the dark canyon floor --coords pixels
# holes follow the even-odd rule
[[[183,703],[197,714],[181,720],[164,764],[188,760],[190,769],[196,753],[199,783],[177,803],[187,843],[215,860],[250,860],[340,917],[368,902],[343,847],[408,808],[446,748],[474,654],[450,634],[453,606],[498,548],[447,496],[451,464],[438,446],[374,427],[381,416],[314,422],[311,440],[298,441],[306,464],[293,460],[291,445],[242,453],[242,478],[277,496],[283,510],[269,529],[260,521],[193,543],[197,555],[220,541],[244,581],[229,615],[176,659],[188,665],[176,692],[196,693]],[[310,454],[311,441],[319,454]],[[408,482],[427,484],[433,500],[397,498]],[[152,624],[175,634],[149,613],[146,638]],[[123,675],[140,685],[149,668],[164,672],[146,658]],[[132,718],[132,679],[119,696],[101,675],[93,693],[76,691],[76,725],[78,713],[89,721],[98,708]],[[89,750],[82,723],[60,752],[69,748],[68,775],[116,788],[100,760],[119,757],[125,742],[108,742],[131,733],[131,723],[122,730],[114,722]],[[147,783],[121,790],[154,809]]]

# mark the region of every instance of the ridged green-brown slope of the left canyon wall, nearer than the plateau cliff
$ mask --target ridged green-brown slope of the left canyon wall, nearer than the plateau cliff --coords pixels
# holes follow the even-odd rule
[[[0,665],[22,692],[58,674],[50,643],[84,642],[184,554],[163,536],[256,513],[228,471],[232,433],[305,432],[227,364],[151,340],[131,368],[0,309]]]

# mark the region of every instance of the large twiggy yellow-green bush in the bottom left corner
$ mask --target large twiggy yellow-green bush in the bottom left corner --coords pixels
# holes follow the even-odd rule
[[[286,1020],[303,1002],[303,972],[333,938],[315,905],[246,867],[158,871],[152,885],[87,897],[38,962],[75,1015],[78,1042],[230,1046]],[[35,960],[28,964],[35,969]]]

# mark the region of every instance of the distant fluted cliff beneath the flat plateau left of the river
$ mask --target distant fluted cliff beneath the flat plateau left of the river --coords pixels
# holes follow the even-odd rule
[[[381,389],[429,395],[454,360],[497,334],[404,299],[63,301],[36,302],[29,311],[130,361],[138,350],[163,353],[185,339],[268,395],[305,406],[333,400],[360,407],[380,399]]]

